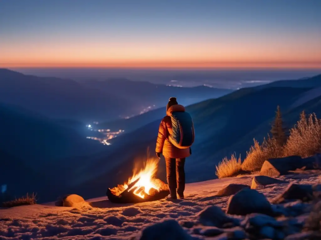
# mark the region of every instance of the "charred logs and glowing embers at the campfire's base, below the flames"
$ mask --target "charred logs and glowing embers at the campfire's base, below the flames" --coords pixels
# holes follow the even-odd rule
[[[135,180],[133,183],[129,184],[128,188],[123,191],[120,195],[116,196],[112,193],[111,189],[107,189],[106,195],[108,199],[112,203],[142,203],[142,202],[150,202],[157,201],[165,198],[169,195],[169,188],[166,183],[161,181],[160,179],[153,179],[152,183],[156,185],[159,189],[151,188],[148,193],[145,192],[144,187],[140,187],[139,189],[131,189],[139,179]],[[141,197],[141,196],[143,197]]]

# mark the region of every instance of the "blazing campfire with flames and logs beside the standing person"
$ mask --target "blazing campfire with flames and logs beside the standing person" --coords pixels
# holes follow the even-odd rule
[[[108,188],[107,196],[113,203],[139,203],[160,200],[169,194],[167,184],[155,178],[158,160],[148,159],[143,169],[134,169],[133,176],[124,184]]]

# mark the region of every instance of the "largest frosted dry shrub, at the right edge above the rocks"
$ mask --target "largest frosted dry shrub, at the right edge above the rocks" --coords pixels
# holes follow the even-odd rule
[[[290,130],[289,139],[284,148],[286,156],[308,157],[321,152],[321,120],[316,114],[307,119],[304,112],[298,123]]]

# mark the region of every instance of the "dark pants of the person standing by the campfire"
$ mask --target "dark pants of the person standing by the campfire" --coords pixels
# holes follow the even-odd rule
[[[185,157],[184,158],[166,158],[166,175],[169,192],[172,197],[176,196],[176,188],[178,196],[184,196],[185,190]]]

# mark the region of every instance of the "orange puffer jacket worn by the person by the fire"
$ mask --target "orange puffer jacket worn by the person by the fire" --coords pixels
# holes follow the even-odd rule
[[[184,158],[190,155],[189,148],[180,149],[171,144],[168,140],[173,133],[171,114],[172,112],[185,112],[182,105],[176,104],[168,108],[166,116],[161,120],[156,141],[156,152],[162,153],[166,158]]]

